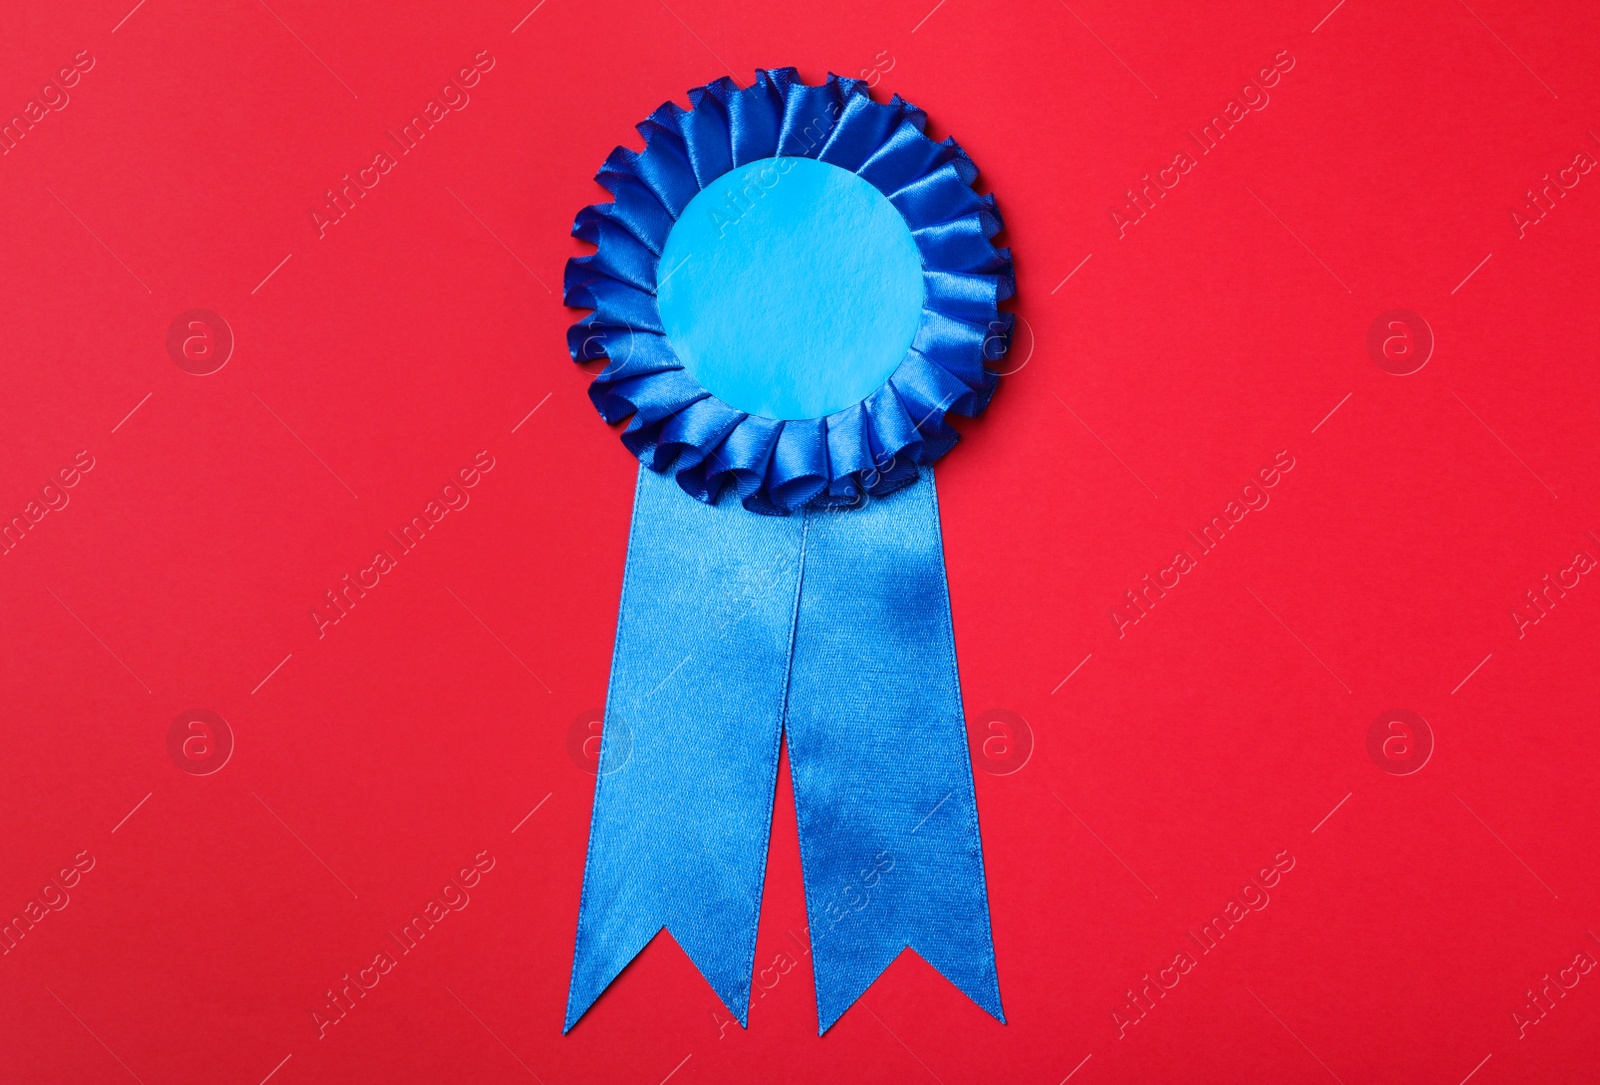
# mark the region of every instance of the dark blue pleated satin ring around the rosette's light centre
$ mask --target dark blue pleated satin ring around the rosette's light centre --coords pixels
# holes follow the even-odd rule
[[[978,166],[955,139],[923,134],[926,114],[894,96],[875,102],[861,80],[800,82],[792,67],[757,70],[690,91],[638,125],[645,150],[614,149],[595,179],[611,203],[578,213],[573,235],[595,245],[566,261],[563,299],[592,309],[568,328],[574,362],[608,358],[589,386],[606,422],[629,416],[622,443],[685,493],[715,502],[731,488],[746,509],[787,515],[848,507],[917,478],[958,440],[946,421],[974,418],[1011,344],[1011,251],[995,248],[1000,213],[978,195]],[[872,395],[837,414],[778,421],[738,411],[685,371],[662,331],[656,270],[667,232],[715,178],[757,158],[800,155],[850,170],[899,210],[922,253],[922,325],[904,360]]]

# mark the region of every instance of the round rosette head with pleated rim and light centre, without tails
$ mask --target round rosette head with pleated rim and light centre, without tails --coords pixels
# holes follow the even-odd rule
[[[1003,373],[1005,224],[955,139],[867,83],[715,80],[638,125],[597,179],[562,298],[589,398],[683,493],[750,512],[848,510],[917,482]],[[1032,331],[1029,331],[1032,341]],[[1032,352],[1032,346],[1029,347]],[[885,470],[883,464],[894,464]]]

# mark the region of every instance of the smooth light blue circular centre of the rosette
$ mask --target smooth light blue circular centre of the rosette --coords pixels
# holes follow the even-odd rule
[[[656,299],[683,368],[734,410],[822,418],[875,392],[922,322],[906,219],[850,170],[760,158],[699,192]]]

